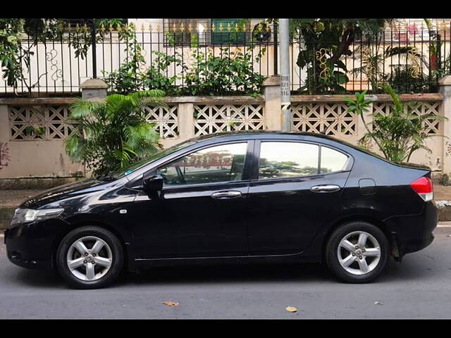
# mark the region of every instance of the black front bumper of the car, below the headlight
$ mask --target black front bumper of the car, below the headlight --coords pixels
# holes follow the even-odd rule
[[[63,220],[56,218],[8,228],[5,244],[9,261],[23,268],[52,269],[54,243],[63,225]]]

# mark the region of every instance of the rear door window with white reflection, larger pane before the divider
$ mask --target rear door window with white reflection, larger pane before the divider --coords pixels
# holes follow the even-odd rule
[[[298,142],[261,142],[259,179],[318,173],[319,146]]]

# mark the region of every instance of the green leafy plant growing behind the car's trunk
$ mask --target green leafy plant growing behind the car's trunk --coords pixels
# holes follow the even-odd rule
[[[371,128],[366,124],[363,114],[371,103],[364,99],[366,92],[357,93],[354,100],[346,99],[349,110],[362,116],[366,134],[361,141],[368,142],[369,139],[373,139],[385,158],[397,163],[409,162],[414,151],[418,149],[430,152],[431,149],[426,146],[426,139],[434,135],[426,132],[424,123],[426,120],[439,117],[433,113],[416,115],[413,113],[412,107],[402,104],[400,97],[390,84],[383,84],[383,89],[390,94],[394,107],[387,115],[373,114]]]

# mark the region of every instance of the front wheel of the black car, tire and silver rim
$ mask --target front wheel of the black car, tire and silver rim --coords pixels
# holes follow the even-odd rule
[[[56,268],[71,287],[98,289],[117,279],[123,270],[123,256],[123,246],[115,234],[103,227],[83,226],[61,240]]]

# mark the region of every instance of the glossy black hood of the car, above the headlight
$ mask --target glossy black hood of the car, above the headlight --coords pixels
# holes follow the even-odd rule
[[[104,189],[107,184],[109,184],[109,182],[103,182],[94,178],[63,184],[32,196],[30,199],[23,202],[23,204],[20,205],[20,208],[39,208],[44,204],[50,204],[54,201],[66,199],[68,197],[99,191]]]

